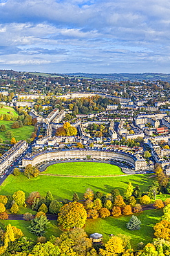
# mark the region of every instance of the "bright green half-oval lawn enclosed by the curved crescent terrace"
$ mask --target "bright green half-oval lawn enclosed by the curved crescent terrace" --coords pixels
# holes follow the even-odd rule
[[[50,165],[45,172],[47,174],[61,174],[70,176],[109,176],[109,175],[123,175],[120,167],[110,165],[107,163],[88,163],[88,162],[74,162],[74,163],[57,163]]]

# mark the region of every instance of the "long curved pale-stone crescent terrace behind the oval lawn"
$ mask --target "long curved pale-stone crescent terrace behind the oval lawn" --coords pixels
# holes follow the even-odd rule
[[[125,161],[130,163],[135,170],[144,170],[146,167],[145,160],[137,159],[135,156],[124,153],[124,152],[111,152],[106,150],[94,150],[94,149],[65,149],[65,150],[55,150],[42,152],[40,154],[35,154],[30,157],[23,158],[22,165],[36,165],[44,161],[52,161],[57,159],[72,159],[72,158],[87,158],[90,156],[92,159],[115,159],[120,161]]]

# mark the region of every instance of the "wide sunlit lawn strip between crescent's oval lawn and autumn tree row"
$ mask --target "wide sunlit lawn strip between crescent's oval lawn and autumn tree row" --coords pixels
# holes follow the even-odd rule
[[[1,194],[8,195],[17,190],[23,190],[26,196],[32,191],[39,191],[42,196],[45,196],[47,190],[50,190],[54,198],[58,200],[72,199],[74,192],[77,192],[80,199],[83,199],[87,188],[103,193],[109,193],[114,188],[118,188],[123,194],[129,181],[134,186],[139,185],[142,191],[146,191],[154,180],[149,176],[148,174],[135,174],[106,178],[72,178],[40,175],[37,178],[28,179],[23,174],[19,176],[11,174],[1,185]]]

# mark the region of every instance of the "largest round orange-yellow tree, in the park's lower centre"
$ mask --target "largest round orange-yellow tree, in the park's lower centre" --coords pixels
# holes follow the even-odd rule
[[[87,213],[85,207],[78,202],[67,203],[61,208],[58,223],[61,228],[81,228],[85,225]]]

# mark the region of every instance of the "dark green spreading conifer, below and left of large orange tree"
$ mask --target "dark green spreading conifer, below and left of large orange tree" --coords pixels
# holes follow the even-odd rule
[[[35,217],[31,220],[28,230],[38,237],[42,237],[45,234],[45,229],[47,228],[49,221],[46,216]]]

